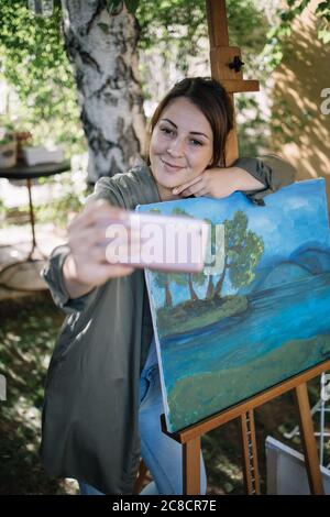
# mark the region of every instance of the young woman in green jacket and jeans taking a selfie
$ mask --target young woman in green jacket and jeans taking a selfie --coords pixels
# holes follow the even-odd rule
[[[68,316],[47,375],[42,460],[53,475],[79,480],[84,494],[132,493],[140,455],[154,477],[144,494],[182,494],[182,448],[161,431],[144,274],[106,260],[105,220],[124,221],[139,204],[235,190],[262,205],[293,180],[293,168],[274,156],[226,167],[232,127],[230,99],[217,81],[175,85],[152,119],[148,164],[97,183],[68,228],[67,245],[53,251],[44,271]]]

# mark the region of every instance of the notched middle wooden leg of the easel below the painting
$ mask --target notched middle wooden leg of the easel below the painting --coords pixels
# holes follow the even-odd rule
[[[253,409],[241,415],[241,433],[243,446],[243,476],[245,492],[260,495],[260,477],[257,466],[255,426]]]

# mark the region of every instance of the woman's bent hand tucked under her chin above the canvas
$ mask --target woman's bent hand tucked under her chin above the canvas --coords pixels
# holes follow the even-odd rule
[[[191,182],[173,189],[182,197],[226,198],[237,190],[258,190],[265,186],[240,167],[207,168]]]

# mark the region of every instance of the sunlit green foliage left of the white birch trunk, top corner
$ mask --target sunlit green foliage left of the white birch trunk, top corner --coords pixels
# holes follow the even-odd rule
[[[0,74],[14,88],[20,105],[9,113],[16,130],[29,130],[33,143],[51,140],[81,151],[75,80],[65,54],[61,2],[50,18],[34,16],[28,1],[0,2]]]

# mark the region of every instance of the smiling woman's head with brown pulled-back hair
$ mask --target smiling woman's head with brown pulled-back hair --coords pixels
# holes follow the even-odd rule
[[[232,127],[232,103],[215,80],[184,79],[165,96],[151,121],[148,152],[163,200],[180,194],[175,187],[197,185],[206,169],[226,166]],[[194,195],[207,194],[202,184],[198,187]]]

